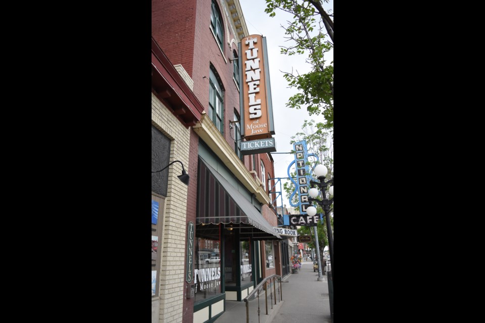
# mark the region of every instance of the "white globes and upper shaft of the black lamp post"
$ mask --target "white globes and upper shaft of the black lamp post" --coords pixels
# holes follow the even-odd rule
[[[325,221],[327,225],[327,237],[328,237],[328,251],[330,252],[330,267],[332,271],[332,282],[333,282],[333,235],[332,235],[332,226],[330,223],[330,205],[333,203],[333,197],[331,199],[327,199],[326,190],[328,184],[332,184],[330,186],[328,192],[331,196],[333,196],[333,178],[325,182],[325,175],[327,175],[327,168],[323,165],[317,165],[315,167],[315,176],[318,177],[320,182],[311,181],[310,185],[318,185],[320,191],[322,193],[322,200],[318,200],[315,197],[319,195],[319,192],[316,188],[311,188],[308,192],[310,198],[308,199],[310,203],[315,202],[323,208],[323,213],[325,214]],[[307,214],[311,217],[315,216],[317,213],[317,209],[315,206],[309,206],[307,208]]]

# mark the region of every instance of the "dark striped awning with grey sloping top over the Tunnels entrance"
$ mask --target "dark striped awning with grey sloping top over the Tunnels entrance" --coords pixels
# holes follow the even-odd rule
[[[254,205],[201,157],[198,177],[197,224],[233,224],[241,238],[282,239]]]

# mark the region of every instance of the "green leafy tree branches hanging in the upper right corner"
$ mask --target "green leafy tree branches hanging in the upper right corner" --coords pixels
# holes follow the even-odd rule
[[[328,0],[322,0],[328,3]],[[292,40],[289,46],[280,46],[281,53],[291,56],[308,53],[306,62],[311,71],[299,74],[298,71],[284,72],[289,87],[300,90],[289,98],[286,106],[301,109],[306,106],[311,115],[322,113],[328,127],[333,127],[333,61],[325,65],[324,54],[333,48],[333,14],[327,13],[319,0],[266,0],[265,12],[270,17],[276,9],[292,14],[293,21],[281,27]],[[326,33],[324,32],[326,31]],[[326,35],[331,41],[325,40]]]

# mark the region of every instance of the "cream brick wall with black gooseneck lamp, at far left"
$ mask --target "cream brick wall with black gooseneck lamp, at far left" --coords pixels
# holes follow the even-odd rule
[[[152,125],[171,139],[170,162],[180,160],[187,171],[190,128],[185,128],[153,93]],[[161,241],[159,323],[182,322],[187,186],[177,178],[181,172],[180,163],[169,168]]]

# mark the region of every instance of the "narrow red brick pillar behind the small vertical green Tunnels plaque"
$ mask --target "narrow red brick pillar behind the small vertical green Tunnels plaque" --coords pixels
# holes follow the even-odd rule
[[[186,223],[192,221],[196,225],[196,207],[197,207],[197,175],[198,175],[198,151],[199,151],[199,136],[193,131],[190,131],[190,152],[188,155],[188,167],[187,174],[190,176],[188,191],[187,191],[187,220]],[[187,226],[185,226],[187,227]],[[197,229],[194,229],[194,234]],[[185,237],[185,245],[187,245]],[[195,237],[194,237],[195,241]],[[185,259],[187,259],[187,249],[185,248]],[[184,277],[187,275],[187,264],[185,263]],[[193,284],[193,280],[192,280]],[[193,300],[194,298],[186,298],[187,282],[184,279],[184,299],[183,299],[183,310],[182,310],[182,322],[191,323],[193,322]]]

